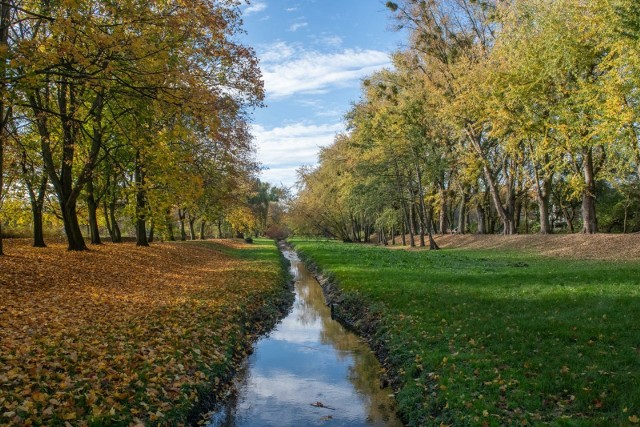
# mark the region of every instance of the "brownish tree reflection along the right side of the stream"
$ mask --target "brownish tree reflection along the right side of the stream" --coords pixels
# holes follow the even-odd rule
[[[349,367],[349,381],[366,407],[367,420],[374,425],[401,426],[395,416],[395,403],[389,397],[391,389],[380,388],[381,367],[371,349],[356,334],[331,319],[331,310],[325,304],[322,288],[311,273],[303,266],[298,266],[298,272],[300,305],[297,307],[301,323],[307,325],[320,317],[322,344],[331,345],[336,350],[338,360],[353,360],[353,365]]]

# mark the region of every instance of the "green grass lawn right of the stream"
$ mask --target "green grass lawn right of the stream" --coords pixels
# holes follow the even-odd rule
[[[292,243],[381,308],[409,425],[640,421],[640,262]]]

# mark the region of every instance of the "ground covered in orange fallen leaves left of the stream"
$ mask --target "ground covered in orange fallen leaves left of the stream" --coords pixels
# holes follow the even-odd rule
[[[271,241],[7,240],[0,425],[185,425],[290,299]]]

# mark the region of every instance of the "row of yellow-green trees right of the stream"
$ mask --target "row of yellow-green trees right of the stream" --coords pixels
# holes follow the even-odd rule
[[[300,171],[295,229],[421,242],[640,230],[640,3],[387,7],[407,47]]]

